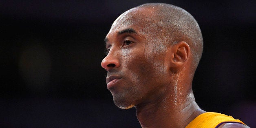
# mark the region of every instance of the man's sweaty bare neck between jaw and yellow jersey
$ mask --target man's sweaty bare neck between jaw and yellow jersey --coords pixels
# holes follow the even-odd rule
[[[175,91],[175,89],[174,89]],[[185,97],[173,95],[157,98],[157,102],[135,106],[143,128],[185,128],[195,117],[204,113],[196,104],[192,90]]]

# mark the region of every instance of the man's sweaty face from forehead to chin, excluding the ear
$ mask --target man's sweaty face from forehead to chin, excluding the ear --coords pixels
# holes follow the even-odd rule
[[[124,13],[105,39],[108,53],[102,67],[107,70],[107,88],[123,109],[160,98],[169,84],[168,48],[165,40],[146,31],[154,24],[143,20],[150,15],[145,13],[143,9]]]

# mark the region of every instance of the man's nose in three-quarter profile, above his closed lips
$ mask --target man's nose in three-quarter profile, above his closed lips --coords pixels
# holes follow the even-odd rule
[[[102,60],[102,68],[105,68],[106,71],[109,71],[113,68],[118,68],[119,66],[119,60],[112,53],[108,53],[108,55]]]

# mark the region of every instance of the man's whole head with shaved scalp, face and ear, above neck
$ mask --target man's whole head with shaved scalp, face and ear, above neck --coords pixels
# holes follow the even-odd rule
[[[170,4],[143,4],[123,13],[106,36],[102,67],[115,104],[131,108],[192,84],[203,39],[194,18]],[[191,91],[191,85],[181,92]],[[188,89],[189,88],[189,89]]]

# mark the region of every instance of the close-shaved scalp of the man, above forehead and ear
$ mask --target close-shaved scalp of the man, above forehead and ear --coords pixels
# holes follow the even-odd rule
[[[167,46],[187,42],[193,59],[191,68],[195,71],[203,51],[203,38],[196,20],[184,9],[163,3],[142,4],[120,15],[112,29],[117,22],[123,26],[141,24],[141,32],[148,35],[148,40],[161,41]]]

